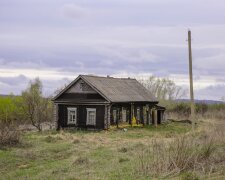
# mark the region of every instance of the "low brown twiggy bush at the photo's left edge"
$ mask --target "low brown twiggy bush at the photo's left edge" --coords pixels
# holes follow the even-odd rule
[[[21,133],[12,123],[0,123],[0,145],[12,146],[20,143]]]

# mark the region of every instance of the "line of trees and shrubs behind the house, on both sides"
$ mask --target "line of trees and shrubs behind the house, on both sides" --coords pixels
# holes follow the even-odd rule
[[[187,91],[177,86],[174,81],[150,76],[148,79],[139,79],[139,82],[157,97],[161,105],[167,108],[167,112],[175,112],[188,117],[189,103],[176,102],[176,99],[184,97]],[[58,93],[59,90],[56,92]],[[201,104],[196,106],[196,112],[205,114],[208,111],[221,111],[221,108],[224,110],[224,106]],[[21,96],[13,94],[0,96],[1,124],[29,123],[41,131],[44,122],[53,123],[53,110],[51,97],[44,97],[43,85],[38,78],[29,82]]]

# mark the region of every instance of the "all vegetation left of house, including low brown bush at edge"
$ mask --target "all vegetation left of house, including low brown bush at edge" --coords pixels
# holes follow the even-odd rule
[[[20,142],[19,126],[32,124],[39,131],[42,123],[53,120],[53,104],[42,95],[39,79],[31,81],[22,96],[0,97],[0,145],[9,146]]]

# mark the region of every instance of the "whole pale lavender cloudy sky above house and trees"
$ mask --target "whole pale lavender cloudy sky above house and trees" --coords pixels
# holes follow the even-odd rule
[[[0,94],[39,77],[51,95],[78,74],[169,77],[225,96],[224,0],[0,0]]]

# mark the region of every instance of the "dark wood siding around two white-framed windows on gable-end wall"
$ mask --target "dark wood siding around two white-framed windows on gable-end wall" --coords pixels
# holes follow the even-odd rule
[[[76,107],[77,108],[77,124],[71,125],[67,124],[68,120],[68,107]],[[87,120],[87,108],[96,108],[96,125],[86,125]],[[64,127],[90,127],[96,129],[104,128],[104,115],[105,115],[105,106],[104,105],[64,105],[59,104],[58,108],[58,128]]]

